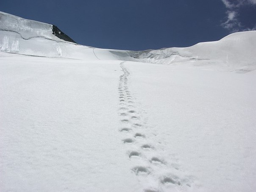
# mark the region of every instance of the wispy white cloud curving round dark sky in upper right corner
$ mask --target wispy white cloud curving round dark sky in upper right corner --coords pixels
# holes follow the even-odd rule
[[[243,27],[239,21],[239,8],[241,6],[256,5],[256,0],[222,0],[222,2],[227,8],[227,16],[225,21],[221,23],[223,28],[231,32],[255,30],[256,26],[251,29]]]

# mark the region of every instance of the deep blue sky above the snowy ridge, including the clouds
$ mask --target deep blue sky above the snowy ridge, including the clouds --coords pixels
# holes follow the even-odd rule
[[[0,0],[0,11],[56,25],[82,45],[188,47],[256,30],[256,0]]]

